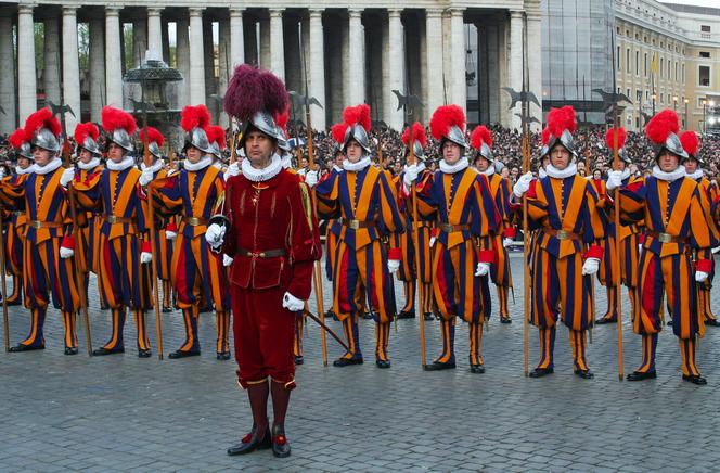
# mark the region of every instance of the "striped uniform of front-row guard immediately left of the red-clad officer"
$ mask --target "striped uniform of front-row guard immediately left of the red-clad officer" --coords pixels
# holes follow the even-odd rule
[[[185,341],[182,351],[198,353],[197,318],[203,303],[216,311],[218,354],[230,351],[230,295],[222,256],[210,251],[205,240],[207,222],[224,192],[222,172],[215,166],[182,169],[153,186],[153,204],[164,216],[180,215],[172,251],[172,285],[182,310]]]

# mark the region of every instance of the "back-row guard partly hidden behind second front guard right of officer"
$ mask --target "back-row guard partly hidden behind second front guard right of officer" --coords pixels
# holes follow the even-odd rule
[[[510,208],[510,195],[512,189],[510,180],[496,172],[496,161],[492,156],[492,135],[484,126],[477,126],[471,133],[471,145],[477,150],[475,164],[477,170],[488,178],[490,194],[496,202],[502,228],[499,228],[493,239],[494,260],[490,267],[490,277],[498,289],[498,302],[500,303],[500,322],[511,323],[510,311],[507,310],[507,295],[513,285],[512,274],[510,272],[510,258],[507,257],[507,246],[515,239],[515,228],[513,227],[513,213]],[[488,314],[488,317],[490,315]]]

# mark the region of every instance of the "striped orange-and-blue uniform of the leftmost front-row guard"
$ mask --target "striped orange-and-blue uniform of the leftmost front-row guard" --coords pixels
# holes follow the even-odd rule
[[[47,166],[52,166],[48,164]],[[50,296],[61,310],[65,347],[77,348],[75,327],[80,297],[75,286],[74,259],[60,257],[63,239],[72,234],[66,191],[60,186],[63,168],[33,172],[17,182],[2,182],[2,200],[14,210],[25,209],[23,238],[23,290],[30,309],[30,331],[23,345],[43,346],[43,324]]]

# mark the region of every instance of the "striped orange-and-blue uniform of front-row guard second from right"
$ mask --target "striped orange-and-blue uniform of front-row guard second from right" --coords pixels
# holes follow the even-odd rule
[[[592,278],[582,276],[583,253],[602,258],[594,245],[604,238],[606,221],[595,188],[584,178],[544,177],[526,194],[528,220],[537,229],[532,255],[530,321],[540,332],[537,369],[553,368],[557,318],[570,330],[576,371],[588,371],[586,331],[592,314]],[[590,248],[588,248],[590,247]]]

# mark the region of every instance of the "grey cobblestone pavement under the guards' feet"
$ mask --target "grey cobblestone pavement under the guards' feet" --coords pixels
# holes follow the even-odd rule
[[[51,310],[44,351],[0,354],[0,471],[717,470],[720,329],[708,328],[699,344],[707,386],[681,381],[678,343],[669,331],[659,337],[658,379],[618,382],[616,325],[594,330],[589,347],[594,380],[573,375],[565,328],[557,332],[555,374],[527,379],[522,258],[513,257],[512,267],[518,285],[516,303],[511,301],[514,322],[501,325],[497,317],[490,322],[485,374],[467,371],[463,324],[457,335],[458,369],[426,373],[420,367],[417,319],[398,321],[389,370],[372,363],[369,321],[361,322],[361,340],[370,362],[323,367],[320,332],[310,321],[306,363],[297,370],[299,387],[286,423],[293,446],[286,460],[268,450],[226,455],[252,420],[246,396],[235,385],[234,362],[215,359],[209,314],[201,316],[202,357],[158,361],[136,356],[131,319],[125,355],[89,359],[80,327],[80,355],[64,356],[60,317]],[[602,316],[604,289],[597,285],[596,294]],[[110,334],[110,314],[99,309],[97,293],[90,298],[97,347]],[[627,319],[627,296],[623,301]],[[720,312],[717,287],[713,303]],[[15,344],[27,331],[27,314],[11,308],[10,320]],[[337,322],[330,324],[340,332]],[[149,327],[156,345],[154,316]],[[183,338],[180,312],[164,315],[163,328],[168,353]],[[628,321],[623,331],[629,372],[640,363],[640,340]],[[428,360],[438,351],[438,334],[437,322],[426,323]],[[327,343],[332,361],[343,350]],[[537,356],[531,328],[530,367]]]

